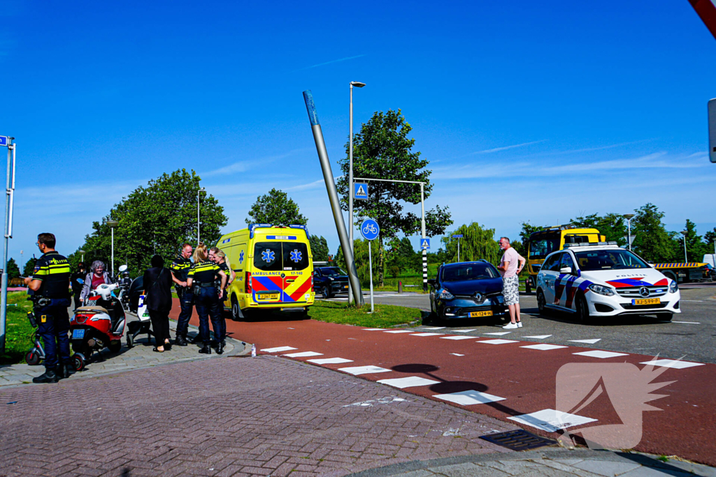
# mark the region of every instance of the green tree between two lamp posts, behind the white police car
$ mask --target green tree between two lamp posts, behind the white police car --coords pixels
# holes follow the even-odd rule
[[[643,205],[634,212],[637,215],[632,219],[632,231],[636,237],[632,242],[632,250],[649,262],[673,260],[673,240],[662,223],[664,212],[660,212],[652,203]]]

